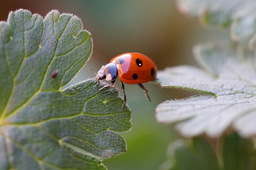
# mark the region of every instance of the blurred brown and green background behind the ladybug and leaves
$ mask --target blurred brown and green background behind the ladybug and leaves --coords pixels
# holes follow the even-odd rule
[[[142,52],[151,57],[159,69],[180,64],[194,65],[193,45],[223,36],[223,30],[207,30],[200,26],[197,18],[179,13],[172,0],[1,0],[0,20],[6,21],[9,11],[18,8],[42,16],[52,9],[79,16],[84,28],[92,33],[94,49],[87,68],[95,71],[123,52]],[[88,69],[82,69],[78,79],[94,76]],[[183,98],[191,93],[160,89],[153,83],[145,86],[151,103],[139,86],[125,86],[133,126],[129,132],[121,133],[127,141],[127,153],[104,161],[110,170],[159,169],[166,159],[169,142],[178,136],[173,127],[156,122],[154,109],[167,99]]]

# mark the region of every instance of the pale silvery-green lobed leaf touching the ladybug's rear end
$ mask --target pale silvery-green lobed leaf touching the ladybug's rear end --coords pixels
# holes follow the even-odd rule
[[[170,100],[156,108],[161,123],[176,123],[182,135],[205,133],[210,137],[233,128],[243,137],[256,135],[255,57],[237,55],[229,45],[198,45],[196,58],[204,69],[180,66],[159,72],[164,87],[202,92],[182,100]],[[204,94],[204,95],[203,95]]]

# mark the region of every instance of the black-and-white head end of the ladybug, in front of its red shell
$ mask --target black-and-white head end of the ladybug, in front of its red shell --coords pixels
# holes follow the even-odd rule
[[[101,79],[106,79],[107,81],[112,81],[114,79],[117,79],[117,66],[116,64],[110,62],[109,64],[106,64],[102,66],[97,72],[95,80],[97,81],[97,84],[99,84],[99,81]]]

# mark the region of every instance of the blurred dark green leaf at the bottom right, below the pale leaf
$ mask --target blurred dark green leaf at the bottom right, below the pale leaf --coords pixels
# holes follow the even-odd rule
[[[252,139],[242,138],[235,132],[218,140],[194,137],[186,142],[172,142],[161,170],[251,170],[255,169],[255,156]]]

